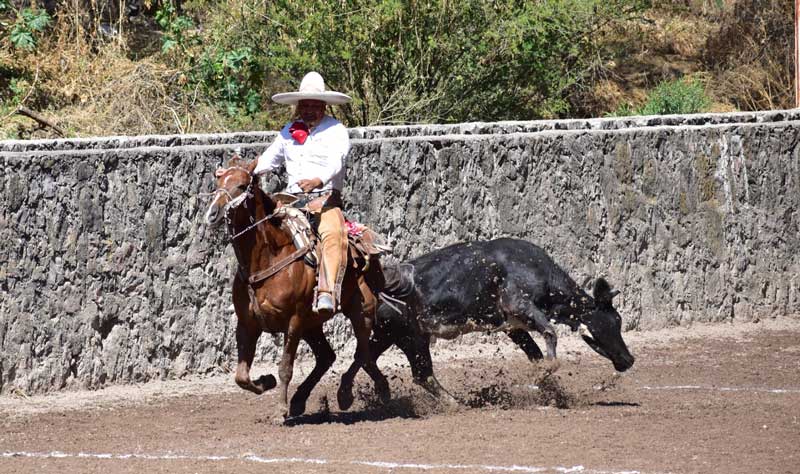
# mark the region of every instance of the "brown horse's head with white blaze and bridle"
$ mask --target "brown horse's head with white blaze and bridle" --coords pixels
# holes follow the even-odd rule
[[[206,223],[219,224],[228,211],[235,209],[252,195],[256,163],[257,160],[247,162],[234,155],[225,168],[217,169],[214,173],[217,190],[214,191],[214,198],[206,211]]]

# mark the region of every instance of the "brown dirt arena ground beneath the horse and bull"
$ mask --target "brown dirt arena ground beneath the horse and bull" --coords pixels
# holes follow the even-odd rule
[[[329,373],[283,426],[267,415],[274,391],[232,376],[0,397],[0,472],[798,473],[799,338],[797,319],[626,333],[636,364],[617,376],[574,336],[557,367],[476,336],[434,346],[461,407],[414,386],[391,352],[390,403],[362,374],[340,412]]]

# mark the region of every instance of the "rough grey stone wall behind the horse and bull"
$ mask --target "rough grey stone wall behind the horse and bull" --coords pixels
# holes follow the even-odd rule
[[[621,289],[628,329],[797,317],[799,116],[353,129],[347,213],[399,258],[538,243],[577,281]],[[254,157],[273,137],[0,142],[0,393],[231,364],[235,259],[203,193],[234,148]],[[275,355],[269,337],[259,352]]]

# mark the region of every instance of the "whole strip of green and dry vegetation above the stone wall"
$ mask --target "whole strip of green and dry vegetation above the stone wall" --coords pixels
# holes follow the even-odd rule
[[[791,107],[785,3],[0,0],[0,132],[274,129],[310,70],[349,126]]]

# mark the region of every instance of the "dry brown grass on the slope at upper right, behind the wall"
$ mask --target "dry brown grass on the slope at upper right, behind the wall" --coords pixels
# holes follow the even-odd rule
[[[604,31],[616,58],[580,97],[587,116],[644,102],[665,80],[706,84],[712,112],[794,107],[792,12],[784,0],[667,0]]]

